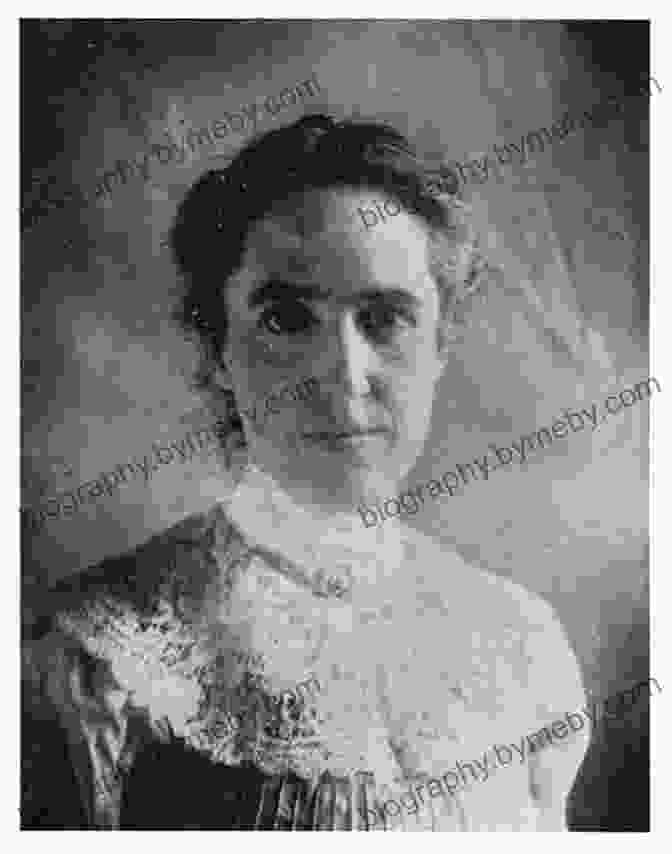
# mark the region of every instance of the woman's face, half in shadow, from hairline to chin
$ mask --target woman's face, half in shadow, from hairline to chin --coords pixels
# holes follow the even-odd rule
[[[251,457],[327,512],[395,494],[443,364],[428,234],[404,211],[367,228],[358,208],[384,200],[316,190],[283,203],[253,226],[225,290],[226,367],[240,410],[256,413],[243,414]]]

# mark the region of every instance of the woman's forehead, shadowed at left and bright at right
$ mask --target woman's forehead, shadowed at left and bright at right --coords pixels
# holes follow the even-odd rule
[[[424,223],[402,211],[367,228],[359,213],[385,198],[316,190],[283,202],[251,229],[236,277],[242,288],[233,292],[244,298],[259,282],[278,278],[319,284],[344,298],[372,286],[403,287],[423,298],[434,288]]]

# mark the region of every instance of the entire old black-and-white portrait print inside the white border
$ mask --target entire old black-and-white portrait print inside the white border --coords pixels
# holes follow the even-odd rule
[[[20,21],[22,830],[650,829],[650,29]]]

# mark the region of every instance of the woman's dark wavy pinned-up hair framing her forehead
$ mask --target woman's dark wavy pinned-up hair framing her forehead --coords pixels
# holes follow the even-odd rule
[[[429,191],[430,174],[440,176],[445,200]],[[169,243],[186,288],[176,319],[200,339],[201,386],[221,361],[226,340],[221,283],[240,266],[252,223],[294,193],[330,187],[382,190],[427,223],[442,244],[432,272],[444,307],[457,306],[475,289],[487,263],[457,176],[446,167],[428,168],[388,125],[305,116],[253,140],[226,168],[206,172],[178,208]]]

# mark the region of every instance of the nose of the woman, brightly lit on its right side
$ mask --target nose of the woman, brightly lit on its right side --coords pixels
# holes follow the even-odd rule
[[[332,382],[348,397],[369,394],[379,368],[379,357],[371,342],[357,328],[352,312],[345,312],[338,319],[330,343],[333,347],[329,359]]]

